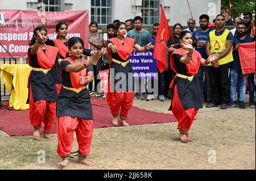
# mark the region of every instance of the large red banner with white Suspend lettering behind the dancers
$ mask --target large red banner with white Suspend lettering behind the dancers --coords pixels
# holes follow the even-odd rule
[[[84,11],[58,11],[43,12],[46,16],[47,33],[49,39],[56,39],[56,24],[64,22],[68,24],[67,39],[76,36],[84,40],[85,48],[88,48],[89,38],[89,14]],[[27,57],[29,42],[33,36],[33,30],[42,26],[38,11],[0,10],[0,58]],[[6,50],[5,50],[6,49]]]

